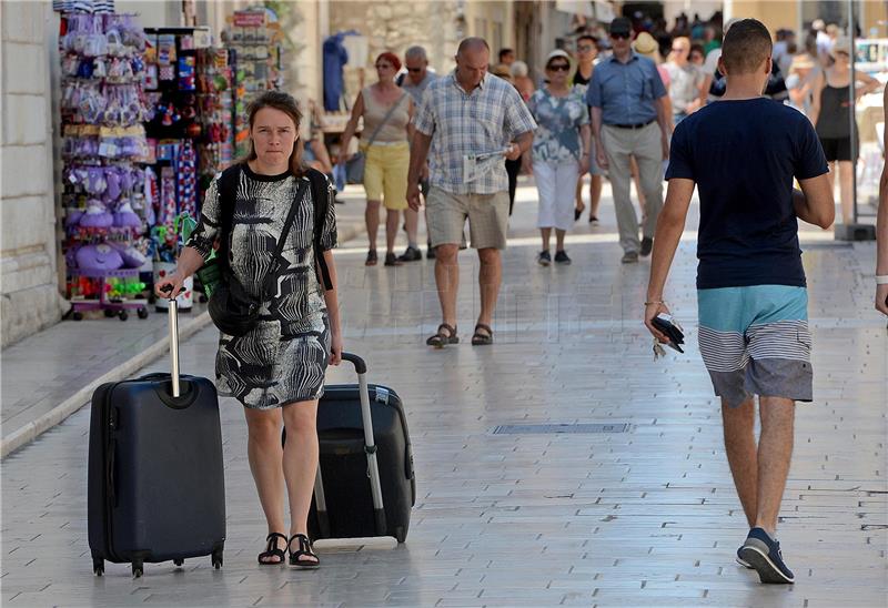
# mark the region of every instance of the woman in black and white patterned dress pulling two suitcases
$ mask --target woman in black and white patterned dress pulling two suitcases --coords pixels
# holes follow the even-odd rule
[[[182,290],[218,249],[210,298],[220,327],[216,387],[244,406],[250,469],[269,525],[262,565],[316,568],[307,516],[317,470],[317,399],[339,365],[333,193],[302,163],[295,100],[269,91],[249,108],[250,153],[218,175],[200,222],[158,294]],[[281,424],[291,440],[281,446]],[[282,510],[290,501],[289,533]]]

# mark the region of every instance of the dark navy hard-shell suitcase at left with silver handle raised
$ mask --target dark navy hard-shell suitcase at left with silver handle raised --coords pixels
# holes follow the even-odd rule
[[[222,566],[225,486],[219,397],[206,378],[179,376],[175,301],[170,301],[172,374],[103,384],[92,396],[89,544],[104,560],[132,564],[212,556]]]

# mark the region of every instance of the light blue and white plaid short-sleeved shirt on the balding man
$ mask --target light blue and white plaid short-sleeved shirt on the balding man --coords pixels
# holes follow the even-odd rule
[[[478,180],[463,183],[463,156],[508,145],[536,129],[529,110],[512,84],[485,74],[466,93],[455,72],[432,82],[413,116],[417,131],[432,138],[431,184],[452,194],[493,194],[508,190],[505,163]]]

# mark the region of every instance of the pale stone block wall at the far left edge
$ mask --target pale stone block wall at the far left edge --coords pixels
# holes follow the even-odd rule
[[[50,17],[48,1],[0,8],[0,346],[52,325],[65,310],[57,274]]]

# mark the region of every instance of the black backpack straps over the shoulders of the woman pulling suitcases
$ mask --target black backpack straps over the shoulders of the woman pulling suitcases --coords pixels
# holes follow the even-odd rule
[[[234,201],[238,195],[238,183],[241,178],[241,163],[233,164],[222,171],[216,181],[219,190],[219,206],[221,210],[220,222],[220,247],[216,256],[221,263],[223,273],[229,272],[229,234],[231,234],[234,221]],[[330,277],[330,268],[326,266],[324,254],[321,251],[321,234],[324,230],[324,220],[330,211],[330,186],[326,176],[315,169],[307,169],[306,176],[311,182],[312,202],[314,203],[314,261],[317,282],[323,285],[324,291],[333,288],[333,281]]]

